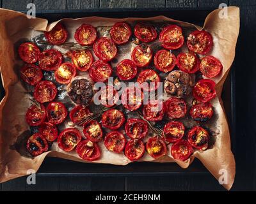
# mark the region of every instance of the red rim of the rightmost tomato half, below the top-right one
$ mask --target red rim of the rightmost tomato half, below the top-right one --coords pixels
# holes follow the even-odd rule
[[[210,61],[213,61],[215,63],[215,65],[217,66],[217,70],[215,70],[215,73],[214,72],[211,73],[211,70],[209,70],[209,69],[207,70],[207,69],[204,68],[204,65],[202,63],[205,60],[206,61],[210,60]],[[218,59],[216,59],[216,57],[213,57],[211,55],[205,56],[202,59],[201,64],[200,64],[200,71],[202,72],[204,77],[208,77],[208,78],[217,77],[218,75],[220,75],[222,69],[223,69],[223,66],[222,66],[221,62]]]

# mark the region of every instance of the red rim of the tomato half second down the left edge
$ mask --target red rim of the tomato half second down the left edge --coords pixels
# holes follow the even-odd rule
[[[24,76],[24,72],[27,69],[34,69],[34,71],[36,71],[37,75],[31,77],[31,80],[29,77]],[[29,71],[29,73],[31,73],[31,71]],[[24,66],[22,66],[22,68],[20,69],[20,78],[22,78],[22,80],[24,80],[24,82],[28,83],[29,85],[36,85],[38,82],[40,82],[40,80],[42,80],[43,73],[41,69],[38,68],[38,66],[36,66],[35,64],[24,64]]]

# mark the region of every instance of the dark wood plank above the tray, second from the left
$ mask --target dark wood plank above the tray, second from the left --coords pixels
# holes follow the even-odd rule
[[[34,0],[36,5],[36,10],[65,10],[66,1],[65,0]]]

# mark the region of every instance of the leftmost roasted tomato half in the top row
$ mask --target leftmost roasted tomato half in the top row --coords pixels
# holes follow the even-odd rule
[[[44,34],[47,41],[52,45],[61,45],[65,43],[68,37],[68,32],[61,23],[55,25],[51,31],[44,32]]]

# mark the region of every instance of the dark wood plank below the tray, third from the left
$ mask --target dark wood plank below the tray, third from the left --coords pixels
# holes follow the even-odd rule
[[[60,177],[60,191],[92,191],[92,178]]]

